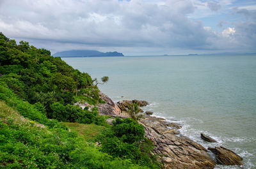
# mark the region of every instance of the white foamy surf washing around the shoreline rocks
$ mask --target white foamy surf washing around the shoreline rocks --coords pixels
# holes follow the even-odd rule
[[[154,110],[159,107],[160,104],[159,103],[150,103],[147,107],[143,108],[145,110],[150,110],[152,112],[154,112]],[[213,133],[210,133],[209,131],[205,131],[204,129],[195,129],[195,128],[191,128],[191,125],[189,125],[189,123],[193,124],[193,122],[196,123],[204,123],[204,121],[202,121],[201,119],[196,119],[193,117],[186,117],[186,118],[182,118],[182,119],[176,119],[176,117],[166,117],[167,115],[165,114],[165,112],[154,112],[153,114],[155,117],[161,117],[166,119],[166,121],[168,122],[177,122],[179,124],[182,124],[182,128],[179,129],[180,134],[187,136],[188,138],[190,138],[191,140],[193,140],[194,142],[200,143],[202,146],[204,146],[206,149],[208,147],[226,147],[227,149],[231,149],[232,151],[236,152],[239,156],[241,156],[243,158],[243,163],[244,166],[243,168],[256,168],[256,164],[253,163],[252,161],[255,161],[255,149],[241,149],[239,147],[234,147],[234,145],[239,146],[239,145],[244,145],[246,143],[255,143],[256,142],[256,138],[255,137],[245,137],[245,136],[220,136],[220,135],[214,135]],[[204,133],[207,136],[210,136],[211,138],[214,138],[214,140],[217,141],[217,143],[208,143],[205,142],[204,140],[202,140],[202,138],[200,138],[200,133]],[[230,147],[229,145],[232,144],[233,147]],[[210,156],[215,159],[215,155],[212,154],[212,152],[209,152]],[[220,169],[231,169],[231,168],[241,168],[240,166],[223,166],[223,165],[217,165],[216,168],[220,168]]]

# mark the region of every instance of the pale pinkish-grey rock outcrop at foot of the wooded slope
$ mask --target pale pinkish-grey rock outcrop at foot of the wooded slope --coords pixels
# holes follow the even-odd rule
[[[104,100],[106,103],[101,103],[97,105],[99,110],[99,114],[103,115],[120,115],[122,110],[109,98],[106,94],[102,92],[99,93],[100,98]]]

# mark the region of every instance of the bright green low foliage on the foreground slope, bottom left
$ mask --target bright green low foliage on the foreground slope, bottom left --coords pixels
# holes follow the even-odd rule
[[[0,168],[147,168],[100,152],[60,122],[37,125],[0,101]]]

